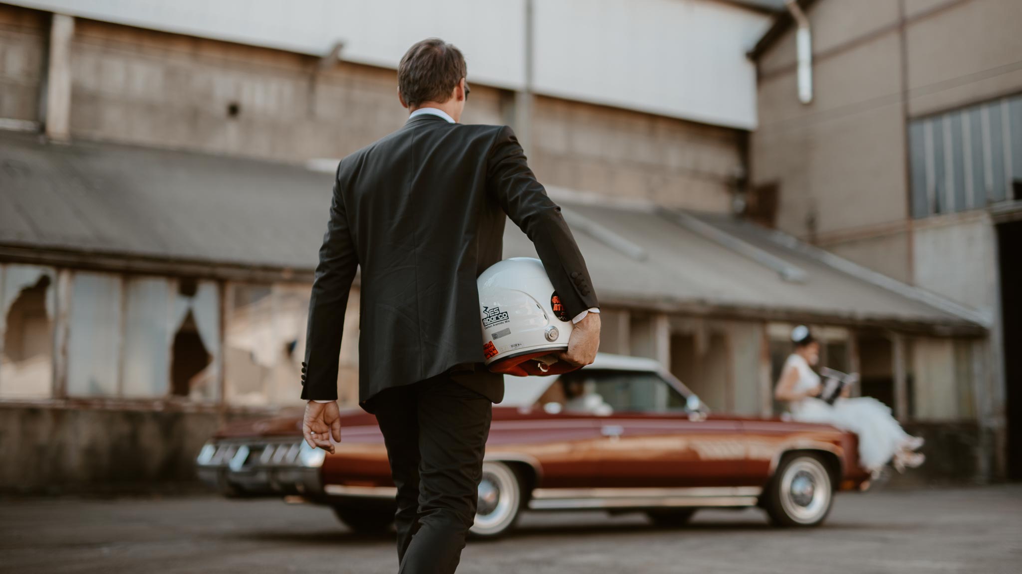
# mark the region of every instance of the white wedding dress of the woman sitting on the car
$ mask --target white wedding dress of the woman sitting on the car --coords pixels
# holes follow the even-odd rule
[[[785,370],[798,372],[796,392],[804,392],[820,384],[817,375],[805,360],[793,353],[785,362]],[[833,405],[819,398],[803,398],[790,403],[791,416],[796,421],[825,423],[858,435],[858,461],[863,468],[878,473],[894,455],[904,448],[918,447],[920,439],[904,432],[891,410],[875,398],[838,398]]]

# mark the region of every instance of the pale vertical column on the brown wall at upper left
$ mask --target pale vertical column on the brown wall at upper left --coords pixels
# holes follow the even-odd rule
[[[71,140],[71,50],[75,18],[53,14],[46,66],[46,137]]]

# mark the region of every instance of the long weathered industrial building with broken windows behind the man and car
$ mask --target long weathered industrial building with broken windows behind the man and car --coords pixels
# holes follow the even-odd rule
[[[805,3],[810,26],[830,3]],[[777,114],[812,117],[826,80],[799,102],[782,3],[648,0],[624,18],[617,2],[452,0],[450,17],[398,25],[384,4],[0,4],[0,458],[17,462],[0,489],[186,481],[218,425],[300,406],[331,175],[403,124],[394,68],[427,35],[466,53],[463,119],[513,126],[562,204],[603,350],[656,358],[717,411],[775,415],[788,333],[809,324],[826,365],[927,437],[916,479],[1005,475],[988,309],[830,241],[840,213],[799,227],[821,188],[847,188],[789,191],[826,146],[788,157],[770,139]],[[528,254],[508,226],[505,255]],[[358,289],[338,326],[347,405]]]

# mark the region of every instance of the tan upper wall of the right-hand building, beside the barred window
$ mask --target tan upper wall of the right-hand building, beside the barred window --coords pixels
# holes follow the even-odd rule
[[[753,184],[780,184],[782,230],[897,279],[961,290],[930,282],[937,270],[913,270],[930,237],[911,237],[907,221],[902,108],[913,118],[1022,91],[1022,3],[908,0],[907,67],[898,2],[823,0],[808,16],[811,104],[796,97],[792,31],[759,59]]]

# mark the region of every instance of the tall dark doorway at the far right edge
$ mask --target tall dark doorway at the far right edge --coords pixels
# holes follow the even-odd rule
[[[997,226],[1004,333],[1008,478],[1022,480],[1022,221]],[[995,343],[994,343],[995,344]]]

